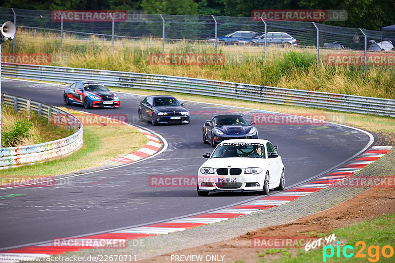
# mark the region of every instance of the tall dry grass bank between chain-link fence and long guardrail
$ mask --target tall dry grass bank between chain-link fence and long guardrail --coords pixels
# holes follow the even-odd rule
[[[265,62],[263,47],[218,46],[218,52],[225,55],[224,65],[158,66],[150,65],[148,56],[162,53],[160,39],[116,39],[112,52],[111,37],[66,34],[62,57],[58,33],[37,32],[34,36],[33,31],[18,29],[16,41],[16,53],[48,53],[52,66],[177,75],[395,99],[394,66],[369,66],[366,73],[363,66],[327,66],[324,56],[334,50],[321,50],[317,65],[314,48],[269,46]],[[3,52],[12,53],[11,42],[4,42]],[[214,53],[214,46],[208,41],[166,41],[165,52]]]

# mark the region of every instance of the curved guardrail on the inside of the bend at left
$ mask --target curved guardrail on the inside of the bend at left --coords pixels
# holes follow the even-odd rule
[[[65,157],[82,146],[83,127],[81,122],[61,109],[34,100],[2,94],[2,103],[15,110],[25,109],[37,111],[39,116],[47,117],[48,122],[56,122],[57,126],[67,125],[76,132],[66,138],[35,145],[8,147],[0,149],[0,169],[33,164],[50,159]]]

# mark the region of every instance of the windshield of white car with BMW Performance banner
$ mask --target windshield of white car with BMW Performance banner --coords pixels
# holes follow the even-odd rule
[[[266,158],[265,146],[260,143],[223,143],[211,154],[211,158],[248,157]]]

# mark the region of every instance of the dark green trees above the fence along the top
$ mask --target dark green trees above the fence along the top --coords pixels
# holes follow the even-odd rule
[[[33,10],[144,10],[148,14],[250,16],[254,9],[344,9],[324,24],[381,30],[395,24],[395,0],[12,0],[0,7]]]

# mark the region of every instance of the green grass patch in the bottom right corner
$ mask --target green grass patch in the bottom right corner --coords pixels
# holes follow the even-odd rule
[[[333,233],[337,236],[336,241],[340,241],[340,257],[337,258],[336,249],[337,245],[333,244],[334,255],[332,258],[328,258],[326,262],[394,262],[395,255],[391,258],[385,258],[381,254],[381,250],[384,246],[392,246],[395,250],[395,214],[384,215],[379,218],[363,221],[346,228],[339,228],[333,230]],[[330,234],[330,233],[327,233]],[[365,254],[366,258],[355,258],[356,252],[362,250],[362,246],[356,246],[356,242],[363,241],[366,244],[362,254]],[[345,258],[342,254],[342,250],[346,245],[354,247],[354,250],[347,249],[347,253],[354,253],[351,258]],[[380,254],[378,255],[375,249],[370,248],[371,246],[379,246]],[[368,254],[370,250],[371,254]],[[327,248],[327,254],[330,254],[330,249]],[[387,254],[390,250],[387,249]],[[370,260],[369,260],[370,259]],[[311,249],[305,252],[304,248],[299,249],[292,257],[285,255],[277,259],[277,263],[305,263],[305,262],[323,262],[323,248]]]

